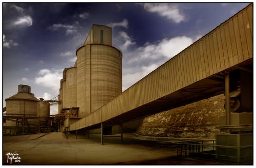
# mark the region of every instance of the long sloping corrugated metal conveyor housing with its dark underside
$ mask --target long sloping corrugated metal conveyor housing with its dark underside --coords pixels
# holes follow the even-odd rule
[[[252,4],[148,74],[122,94],[70,125],[70,130],[121,123],[224,91],[221,73],[252,65]]]

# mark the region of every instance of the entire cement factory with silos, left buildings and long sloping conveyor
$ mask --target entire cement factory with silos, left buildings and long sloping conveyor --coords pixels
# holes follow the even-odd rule
[[[106,137],[123,143],[123,133],[135,132],[147,116],[225,94],[214,143],[176,144],[177,155],[251,161],[252,30],[250,4],[122,92],[122,51],[112,44],[111,27],[94,24],[76,48],[74,66],[63,70],[56,99],[37,99],[27,85],[6,99],[4,134],[98,133],[101,145]],[[57,115],[50,105],[58,105]]]

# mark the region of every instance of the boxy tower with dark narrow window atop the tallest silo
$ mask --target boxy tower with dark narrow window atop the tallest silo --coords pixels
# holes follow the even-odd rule
[[[112,46],[112,29],[109,26],[93,24],[84,41],[85,44],[105,44]]]

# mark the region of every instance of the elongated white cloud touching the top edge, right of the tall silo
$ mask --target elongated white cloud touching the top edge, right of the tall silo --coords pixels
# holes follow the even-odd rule
[[[179,23],[185,20],[185,16],[180,12],[177,5],[170,4],[144,4],[144,9],[148,12],[157,13],[160,16]]]

